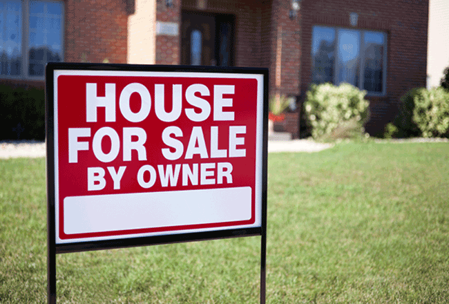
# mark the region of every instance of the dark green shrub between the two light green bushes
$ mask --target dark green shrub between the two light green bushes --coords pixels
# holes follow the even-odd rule
[[[394,118],[393,124],[397,128],[392,137],[407,138],[421,136],[421,130],[416,122],[413,120],[414,111],[414,97],[419,95],[420,88],[412,88],[401,97],[399,104],[399,113]],[[392,131],[390,129],[385,130],[387,133]],[[386,135],[388,137],[388,135]]]

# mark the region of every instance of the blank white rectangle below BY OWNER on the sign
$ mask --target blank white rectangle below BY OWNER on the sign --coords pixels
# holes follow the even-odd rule
[[[201,225],[250,218],[251,187],[64,198],[66,234]]]

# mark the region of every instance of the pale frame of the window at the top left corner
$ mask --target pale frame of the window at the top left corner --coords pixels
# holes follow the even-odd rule
[[[34,80],[34,81],[44,81],[45,73],[42,76],[32,76],[30,75],[30,60],[29,60],[29,52],[30,52],[30,1],[31,0],[16,0],[21,3],[22,10],[22,23],[21,23],[21,52],[22,52],[22,60],[21,64],[23,65],[23,69],[21,71],[21,75],[1,75],[0,79],[17,79],[17,80]],[[40,0],[34,0],[40,1]],[[48,2],[58,2],[62,5],[62,15],[61,15],[61,62],[64,61],[64,50],[65,50],[65,37],[64,37],[64,27],[65,27],[65,17],[66,17],[66,3],[62,0],[46,0]]]

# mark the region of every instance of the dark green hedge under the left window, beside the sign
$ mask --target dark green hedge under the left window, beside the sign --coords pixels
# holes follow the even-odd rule
[[[44,140],[44,89],[0,84],[0,128],[0,140]]]

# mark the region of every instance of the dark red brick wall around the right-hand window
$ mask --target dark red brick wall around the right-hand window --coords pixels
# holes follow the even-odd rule
[[[387,34],[387,79],[385,97],[369,97],[371,133],[397,113],[401,95],[410,88],[426,86],[428,0],[303,0],[301,91],[312,80],[312,26],[352,28],[350,12],[359,14],[356,28],[381,30]]]

